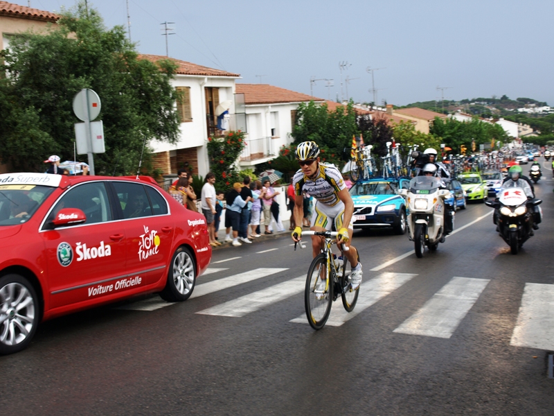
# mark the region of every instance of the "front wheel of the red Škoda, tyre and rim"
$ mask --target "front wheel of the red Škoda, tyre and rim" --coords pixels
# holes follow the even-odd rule
[[[29,345],[39,323],[35,288],[20,275],[0,278],[0,354],[13,354]]]

